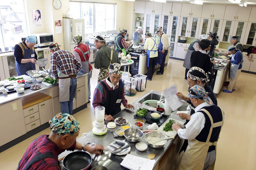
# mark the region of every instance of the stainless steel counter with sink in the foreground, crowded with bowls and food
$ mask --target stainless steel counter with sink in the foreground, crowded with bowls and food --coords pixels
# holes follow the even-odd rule
[[[144,96],[142,96],[140,99],[136,100],[135,102],[133,102],[133,103],[131,103],[131,104],[135,106],[135,103],[136,103],[136,102],[143,100],[146,96],[151,95],[152,93],[153,93],[153,94],[157,94],[157,96],[159,96],[159,98],[160,98],[160,96],[161,96],[161,93],[152,90],[152,91],[148,92],[147,94],[145,94]],[[158,99],[158,100],[159,100],[159,99]],[[181,106],[182,109],[183,109],[183,110],[184,110],[184,109],[186,110],[187,105],[188,105],[188,104],[185,102],[185,103],[183,104],[183,106]],[[179,109],[178,109],[178,110],[179,110]],[[123,109],[123,110],[121,110],[119,113],[117,113],[116,116],[113,116],[113,117],[114,117],[114,118],[120,117],[120,116],[125,117],[125,118],[128,119],[128,121],[131,123],[131,125],[133,125],[133,124],[135,123],[134,115],[135,115],[135,111],[134,111],[134,110]],[[182,119],[180,119],[179,116],[177,116],[177,115],[174,115],[174,114],[173,114],[173,115],[172,115],[172,118],[173,118],[173,119],[176,119],[176,120],[180,120],[180,121],[182,121],[182,122],[185,123],[185,121],[182,120]],[[105,124],[107,124],[107,123],[108,123],[108,121],[105,121]],[[147,127],[148,125],[149,125],[148,123],[145,123],[145,127]],[[115,141],[115,140],[117,140],[117,139],[119,139],[119,140],[125,140],[125,137],[117,137],[117,138],[114,138],[114,137],[113,137],[113,135],[112,135],[112,133],[110,132],[110,130],[115,131],[116,129],[121,129],[120,125],[117,125],[116,128],[114,128],[114,129],[108,129],[108,132],[107,132],[105,135],[103,135],[103,136],[94,135],[94,134],[92,133],[92,130],[90,130],[89,132],[85,133],[85,135],[83,135],[83,136],[81,136],[79,139],[77,139],[77,141],[78,141],[78,142],[82,142],[82,143],[88,143],[88,142],[90,142],[90,143],[98,143],[98,144],[103,145],[104,148],[106,148],[111,142],[113,142],[113,141]],[[80,132],[80,133],[83,133],[83,132]],[[147,142],[145,141],[145,134],[146,134],[146,133],[144,133],[142,139],[140,139],[139,142],[147,143]],[[176,137],[177,137],[177,134],[176,134],[175,138],[176,138]],[[136,144],[137,142],[131,143],[131,142],[128,142],[128,141],[126,140],[126,142],[128,142],[128,143],[131,145],[131,152],[130,152],[129,154],[131,154],[131,155],[136,155],[136,156],[140,156],[140,157],[143,157],[143,158],[148,158],[148,154],[149,154],[149,153],[154,153],[154,154],[155,154],[155,158],[154,158],[154,159],[155,159],[155,165],[159,162],[159,160],[160,160],[161,157],[164,155],[164,153],[166,152],[166,150],[169,148],[169,146],[172,144],[173,141],[174,141],[174,140],[169,140],[169,141],[166,143],[166,145],[164,145],[164,147],[162,147],[161,149],[153,149],[153,148],[151,148],[150,146],[148,146],[148,149],[147,149],[146,151],[140,152],[140,151],[138,151],[138,150],[135,148],[135,144]],[[61,153],[61,154],[59,155],[59,158],[61,158],[61,157],[65,156],[65,155],[67,155],[67,153],[69,153],[69,152],[71,152],[71,151],[65,151],[65,152]],[[115,155],[115,156],[118,157],[118,158],[121,158],[121,159],[124,159],[124,157],[125,157],[125,155],[122,155],[122,156]],[[108,161],[108,160],[107,160],[107,161]],[[101,164],[101,163],[104,164],[104,162],[99,162],[99,164]]]

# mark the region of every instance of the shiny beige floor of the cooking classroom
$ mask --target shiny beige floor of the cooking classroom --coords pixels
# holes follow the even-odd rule
[[[169,60],[163,75],[154,75],[147,82],[144,92],[133,97],[126,96],[128,103],[133,102],[150,90],[162,91],[176,84],[178,91],[187,94],[187,82],[184,80],[183,61]],[[91,98],[97,84],[99,70],[94,69],[91,79]],[[256,75],[241,73],[234,93],[220,92],[217,95],[218,105],[225,112],[225,122],[217,146],[216,170],[247,170],[256,167]],[[79,137],[92,128],[94,110],[92,104],[74,115],[81,125]],[[16,169],[19,160],[33,139],[42,134],[49,134],[50,129],[20,142],[0,153],[0,169]],[[1,138],[4,136],[1,136]]]

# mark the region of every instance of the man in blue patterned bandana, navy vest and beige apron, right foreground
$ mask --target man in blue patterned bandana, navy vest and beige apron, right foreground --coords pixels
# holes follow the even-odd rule
[[[172,129],[182,139],[188,140],[188,147],[180,162],[179,170],[207,170],[214,166],[216,145],[224,123],[224,112],[213,104],[202,86],[194,85],[189,89],[189,100],[196,107],[186,129],[174,123]]]

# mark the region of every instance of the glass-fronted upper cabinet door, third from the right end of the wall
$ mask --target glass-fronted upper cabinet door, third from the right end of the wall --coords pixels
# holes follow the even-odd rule
[[[233,29],[235,21],[224,20],[222,24],[220,41],[229,42],[229,38],[233,35]]]

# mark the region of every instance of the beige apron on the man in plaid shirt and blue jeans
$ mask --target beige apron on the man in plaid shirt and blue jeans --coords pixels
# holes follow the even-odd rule
[[[67,74],[63,74],[59,71],[59,77],[68,77]],[[59,79],[59,100],[60,102],[69,101],[69,87],[70,87],[70,78]],[[74,98],[77,98],[77,86],[74,93]]]

